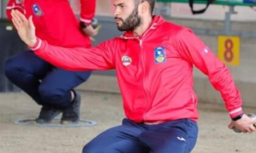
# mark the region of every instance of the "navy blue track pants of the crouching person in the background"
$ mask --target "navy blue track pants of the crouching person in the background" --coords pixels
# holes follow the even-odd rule
[[[38,104],[66,107],[71,103],[70,90],[86,81],[91,72],[71,72],[52,66],[32,50],[12,56],[4,71],[13,84]]]

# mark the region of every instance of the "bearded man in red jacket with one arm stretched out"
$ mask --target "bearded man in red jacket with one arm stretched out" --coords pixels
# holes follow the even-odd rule
[[[32,18],[12,12],[30,49],[68,70],[116,69],[126,117],[85,145],[83,152],[191,152],[197,140],[197,98],[193,65],[221,92],[229,128],[255,132],[243,114],[239,90],[227,67],[186,27],[152,16],[155,0],[115,0],[121,38],[92,49],[52,46],[37,38]]]

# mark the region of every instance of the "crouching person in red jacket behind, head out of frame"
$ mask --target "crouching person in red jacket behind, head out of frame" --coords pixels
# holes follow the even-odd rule
[[[96,35],[91,21],[96,0],[81,0],[80,24],[68,0],[10,0],[7,16],[18,10],[34,16],[36,33],[49,44],[62,47],[91,47],[90,36]],[[63,113],[62,123],[79,120],[80,95],[74,87],[86,81],[91,72],[71,72],[59,69],[38,58],[32,50],[12,56],[5,62],[5,75],[12,83],[42,105],[37,123],[50,123]]]

